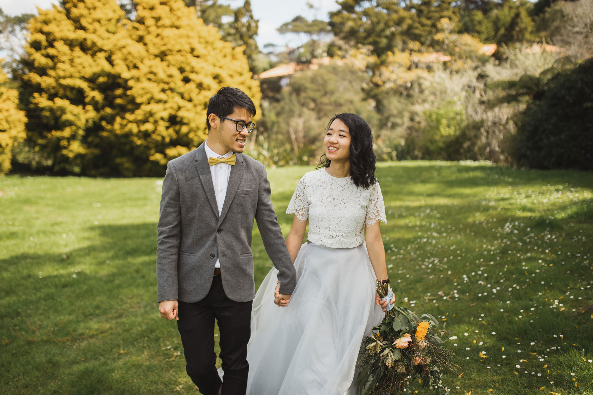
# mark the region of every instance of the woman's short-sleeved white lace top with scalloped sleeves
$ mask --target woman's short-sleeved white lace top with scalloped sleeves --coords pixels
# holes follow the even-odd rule
[[[311,243],[349,249],[365,241],[365,224],[387,224],[378,182],[368,189],[357,187],[352,177],[332,177],[325,168],[302,176],[286,214],[309,219]]]

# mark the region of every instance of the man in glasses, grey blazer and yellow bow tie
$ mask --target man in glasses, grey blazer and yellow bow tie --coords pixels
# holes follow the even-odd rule
[[[279,270],[279,300],[297,274],[270,201],[266,168],[243,155],[256,114],[237,88],[208,102],[208,140],[170,161],[162,184],[157,244],[161,317],[177,320],[187,375],[203,395],[246,393],[247,342],[255,297],[253,220]],[[216,371],[214,320],[220,331],[224,385]]]

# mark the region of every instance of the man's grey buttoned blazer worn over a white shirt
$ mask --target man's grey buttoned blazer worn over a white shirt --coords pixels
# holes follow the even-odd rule
[[[205,298],[217,257],[225,294],[237,302],[253,300],[254,219],[266,252],[280,271],[280,294],[292,294],[297,273],[270,200],[266,168],[236,154],[219,217],[204,144],[167,164],[158,220],[158,301]]]

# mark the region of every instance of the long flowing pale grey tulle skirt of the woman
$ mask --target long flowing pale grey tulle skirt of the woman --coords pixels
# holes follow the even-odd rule
[[[297,288],[286,308],[273,303],[278,270],[267,274],[251,313],[248,395],[353,393],[362,340],[384,313],[365,244],[332,249],[303,244]]]

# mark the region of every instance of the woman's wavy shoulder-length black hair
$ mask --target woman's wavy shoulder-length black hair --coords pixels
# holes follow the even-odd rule
[[[346,124],[350,130],[350,176],[357,187],[365,189],[373,185],[375,179],[375,152],[372,150],[371,127],[364,119],[356,114],[334,114],[334,117],[327,124],[330,128],[334,120],[339,119]],[[321,155],[320,164],[317,168],[329,167],[331,161],[326,154]]]

